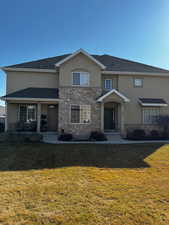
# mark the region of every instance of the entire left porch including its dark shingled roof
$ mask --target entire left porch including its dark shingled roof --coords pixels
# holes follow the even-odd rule
[[[6,102],[5,131],[57,131],[57,88],[26,88],[2,99]]]

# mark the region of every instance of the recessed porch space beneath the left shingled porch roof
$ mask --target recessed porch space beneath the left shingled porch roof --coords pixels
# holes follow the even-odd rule
[[[8,118],[5,131],[56,132],[58,129],[58,103],[7,102]]]

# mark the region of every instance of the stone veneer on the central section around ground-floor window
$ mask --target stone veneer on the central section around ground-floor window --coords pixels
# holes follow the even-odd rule
[[[59,88],[59,132],[72,133],[75,137],[88,137],[91,131],[101,129],[101,106],[96,99],[102,89],[96,87],[61,87]],[[71,124],[71,105],[90,105],[91,122],[89,124]]]

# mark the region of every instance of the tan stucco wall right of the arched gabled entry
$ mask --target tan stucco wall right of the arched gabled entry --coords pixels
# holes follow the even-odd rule
[[[142,123],[142,107],[139,98],[163,98],[169,104],[169,77],[144,76],[143,87],[133,86],[134,76],[120,75],[118,80],[119,92],[130,99],[125,103],[125,124]],[[164,114],[169,113],[169,107],[162,107]]]

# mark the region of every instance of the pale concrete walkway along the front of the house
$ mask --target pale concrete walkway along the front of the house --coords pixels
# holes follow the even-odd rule
[[[169,140],[131,141],[122,139],[120,135],[108,138],[107,141],[58,141],[56,133],[43,134],[43,142],[48,144],[145,144],[145,143],[169,143]]]

